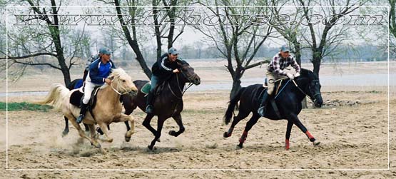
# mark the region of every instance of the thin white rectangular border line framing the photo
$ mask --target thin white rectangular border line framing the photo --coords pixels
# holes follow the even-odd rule
[[[13,8],[21,7],[32,7],[32,6],[12,6]],[[52,6],[33,6],[33,7],[52,7]],[[63,6],[63,7],[110,7],[110,6]],[[120,6],[128,7],[128,6]],[[152,7],[152,6],[136,6],[136,7]],[[164,6],[158,6],[164,7]],[[176,6],[176,7],[202,7],[202,6]],[[210,7],[225,7],[225,6],[210,6]],[[276,6],[233,6],[233,7],[276,7]],[[283,6],[283,7],[345,7],[345,6]],[[360,6],[365,7],[387,7],[387,14],[390,14],[390,6]],[[126,169],[80,169],[80,168],[54,168],[54,169],[15,169],[9,168],[9,118],[8,118],[8,9],[9,5],[6,6],[6,170],[9,171],[387,171],[390,170],[390,28],[389,23],[387,25],[387,168],[369,168],[369,169],[359,169],[359,168],[323,168],[323,169],[303,169],[303,168],[246,168],[246,169],[232,169],[232,168],[209,168],[209,169],[171,169],[171,168],[126,168]]]

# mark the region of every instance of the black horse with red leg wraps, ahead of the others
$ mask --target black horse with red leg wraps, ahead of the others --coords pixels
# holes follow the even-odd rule
[[[319,78],[312,71],[301,69],[301,76],[297,77],[293,80],[286,80],[287,82],[283,83],[280,86],[281,91],[278,92],[278,96],[275,96],[276,108],[278,108],[278,114],[274,110],[271,103],[268,103],[265,118],[269,118],[271,120],[280,120],[286,119],[288,120],[288,127],[286,130],[286,140],[285,140],[285,148],[289,149],[289,138],[290,131],[292,130],[293,124],[300,128],[303,133],[305,133],[309,140],[313,142],[313,145],[319,145],[319,141],[315,140],[313,135],[311,135],[307,128],[301,123],[300,119],[298,119],[298,114],[301,111],[301,101],[305,98],[305,96],[309,96],[311,100],[313,100],[316,107],[320,108],[323,104],[323,99],[320,94],[320,83]],[[266,88],[263,88],[261,84],[255,84],[251,86],[247,86],[245,88],[241,88],[240,91],[231,99],[227,111],[225,112],[224,122],[225,124],[230,123],[231,117],[233,116],[233,111],[236,103],[240,101],[239,105],[239,113],[238,116],[234,117],[233,123],[231,124],[228,132],[224,133],[224,138],[228,138],[233,133],[233,129],[235,125],[241,121],[243,118],[246,118],[250,112],[253,113],[252,118],[246,123],[245,131],[243,131],[242,136],[239,139],[239,148],[243,148],[243,143],[245,142],[248,132],[250,128],[252,128],[255,123],[257,123],[260,115],[257,110],[260,106],[260,100],[263,93],[266,93]]]

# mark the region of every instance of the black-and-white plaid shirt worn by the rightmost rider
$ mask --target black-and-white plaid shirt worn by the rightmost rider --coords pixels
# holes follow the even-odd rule
[[[267,70],[278,75],[286,76],[286,72],[283,71],[283,69],[285,69],[289,65],[295,68],[295,72],[300,73],[300,66],[298,65],[297,61],[295,61],[293,56],[288,56],[288,58],[285,59],[280,56],[280,53],[277,53],[273,57],[273,60],[268,63]]]

